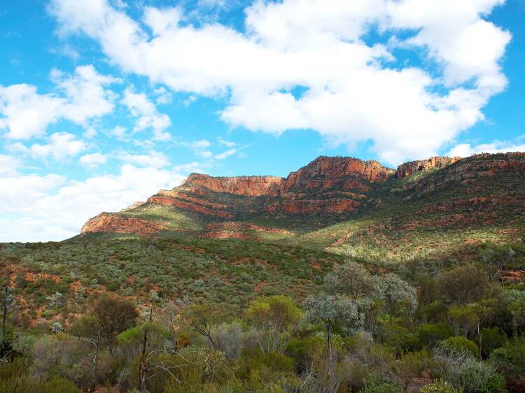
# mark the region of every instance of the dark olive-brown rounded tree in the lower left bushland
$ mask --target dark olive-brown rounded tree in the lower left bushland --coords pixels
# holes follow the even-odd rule
[[[116,336],[134,326],[137,320],[137,309],[131,301],[103,295],[94,305],[94,315],[100,323],[100,333],[109,351],[113,352]]]

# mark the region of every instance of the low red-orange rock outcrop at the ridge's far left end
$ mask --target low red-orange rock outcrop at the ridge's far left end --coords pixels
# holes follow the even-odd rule
[[[151,235],[166,229],[165,225],[144,220],[144,218],[119,217],[111,213],[102,213],[90,218],[80,230],[80,235],[97,232],[113,232],[118,234]]]

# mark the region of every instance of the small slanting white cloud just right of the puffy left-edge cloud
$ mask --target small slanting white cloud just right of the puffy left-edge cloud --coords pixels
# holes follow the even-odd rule
[[[137,117],[134,131],[153,129],[153,138],[157,141],[169,141],[171,135],[165,131],[172,125],[172,120],[164,113],[158,113],[155,104],[146,94],[135,93],[129,88],[125,90],[122,103],[130,109],[131,114]]]

